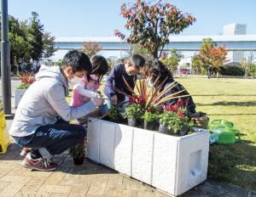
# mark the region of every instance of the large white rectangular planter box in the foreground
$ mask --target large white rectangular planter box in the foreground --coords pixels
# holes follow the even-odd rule
[[[209,133],[174,137],[90,118],[88,157],[167,194],[207,179]]]

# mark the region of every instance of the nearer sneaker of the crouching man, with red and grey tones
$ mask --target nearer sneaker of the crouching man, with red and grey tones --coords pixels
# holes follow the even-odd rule
[[[58,167],[58,164],[42,157],[33,160],[31,154],[28,153],[22,161],[21,166],[37,171],[54,171]]]

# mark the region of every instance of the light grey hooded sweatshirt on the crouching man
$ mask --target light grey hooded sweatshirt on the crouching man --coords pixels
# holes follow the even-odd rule
[[[82,117],[96,110],[93,102],[78,108],[67,104],[68,83],[57,66],[42,66],[36,82],[26,90],[15,113],[9,134],[25,137],[36,132],[38,127],[54,124],[56,116],[65,121]]]

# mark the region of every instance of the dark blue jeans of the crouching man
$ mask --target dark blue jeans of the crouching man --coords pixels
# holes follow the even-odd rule
[[[56,155],[83,141],[85,136],[86,130],[83,126],[57,121],[54,125],[38,127],[32,135],[14,138],[21,147],[45,148],[49,154]]]

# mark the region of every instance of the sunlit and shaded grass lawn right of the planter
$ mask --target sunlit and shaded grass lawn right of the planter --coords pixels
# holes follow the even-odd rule
[[[193,96],[197,111],[206,112],[210,121],[232,121],[242,133],[239,143],[211,145],[208,177],[256,190],[256,80],[178,78],[177,82]]]

